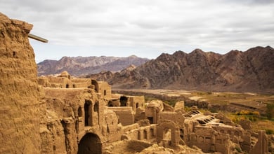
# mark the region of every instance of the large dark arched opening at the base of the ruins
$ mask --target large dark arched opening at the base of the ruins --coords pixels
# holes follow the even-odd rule
[[[77,154],[101,154],[102,144],[98,135],[93,133],[85,134],[78,144]]]

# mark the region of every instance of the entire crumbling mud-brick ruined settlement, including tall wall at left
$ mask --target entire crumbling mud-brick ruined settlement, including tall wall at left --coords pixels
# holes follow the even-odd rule
[[[0,153],[267,153],[264,132],[252,143],[220,114],[145,104],[66,71],[37,77],[31,29],[0,13]]]

